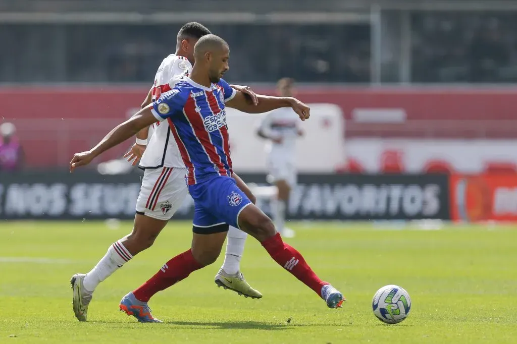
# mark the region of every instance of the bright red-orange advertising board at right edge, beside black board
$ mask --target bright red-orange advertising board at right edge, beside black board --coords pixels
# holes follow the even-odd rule
[[[517,221],[517,174],[451,176],[455,221]]]

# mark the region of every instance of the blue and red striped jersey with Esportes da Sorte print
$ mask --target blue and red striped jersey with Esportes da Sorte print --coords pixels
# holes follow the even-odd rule
[[[153,103],[155,117],[169,122],[188,168],[188,185],[214,176],[232,176],[224,103],[235,92],[223,79],[205,87],[184,76]]]

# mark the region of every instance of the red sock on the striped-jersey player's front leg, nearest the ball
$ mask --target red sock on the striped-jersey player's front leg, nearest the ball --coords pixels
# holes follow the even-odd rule
[[[323,282],[316,276],[296,249],[282,241],[280,233],[264,241],[262,246],[264,246],[271,258],[275,259],[285,270],[292,273],[321,297],[322,287],[328,283]]]

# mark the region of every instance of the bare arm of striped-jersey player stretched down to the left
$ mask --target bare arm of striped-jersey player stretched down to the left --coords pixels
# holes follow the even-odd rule
[[[76,167],[89,164],[102,152],[124,142],[138,133],[142,128],[148,127],[156,122],[156,117],[151,113],[151,108],[153,108],[153,106],[149,105],[124,123],[118,124],[118,126],[106,135],[94,148],[86,152],[75,154],[70,162],[70,172],[72,172]]]

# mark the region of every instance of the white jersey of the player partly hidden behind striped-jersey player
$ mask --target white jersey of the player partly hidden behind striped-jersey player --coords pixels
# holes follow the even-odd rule
[[[182,76],[188,76],[191,71],[192,65],[186,57],[175,54],[165,57],[156,72],[153,101],[160,98],[162,93],[170,91]],[[168,123],[153,124],[149,128],[148,137],[150,139],[140,160],[140,168],[185,167]]]

